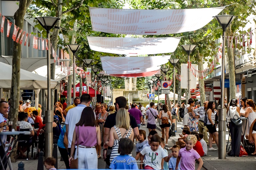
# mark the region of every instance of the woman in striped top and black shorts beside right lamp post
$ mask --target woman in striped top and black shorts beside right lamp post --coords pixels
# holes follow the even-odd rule
[[[212,148],[212,137],[213,135],[215,136],[215,142],[218,145],[218,132],[216,130],[215,126],[215,114],[217,114],[217,110],[215,108],[215,103],[214,102],[209,102],[207,105],[207,111],[206,111],[206,116],[207,116],[207,124],[206,127],[209,130],[209,151],[214,151],[217,149]]]

